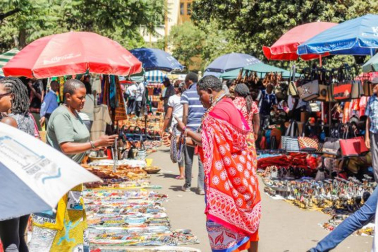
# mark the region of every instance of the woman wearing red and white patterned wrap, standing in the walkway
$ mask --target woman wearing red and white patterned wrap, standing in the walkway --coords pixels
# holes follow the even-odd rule
[[[213,252],[257,251],[261,215],[255,154],[247,145],[250,126],[212,75],[197,83],[207,108],[199,132],[181,121],[187,145],[197,145],[204,164],[206,227]]]

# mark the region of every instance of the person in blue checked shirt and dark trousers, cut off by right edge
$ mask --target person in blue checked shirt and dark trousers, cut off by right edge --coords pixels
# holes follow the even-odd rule
[[[368,116],[366,122],[365,143],[372,153],[374,169],[374,179],[378,182],[378,85],[374,84],[373,95],[366,105],[365,115]]]

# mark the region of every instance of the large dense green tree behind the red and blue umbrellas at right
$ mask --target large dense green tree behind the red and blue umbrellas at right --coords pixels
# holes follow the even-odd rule
[[[340,23],[377,12],[375,0],[194,0],[191,18],[200,29],[212,22],[216,29],[232,31],[228,39],[239,45],[241,52],[266,61],[262,46],[272,45],[295,26],[318,20]],[[350,60],[350,57],[343,59]],[[340,62],[332,58],[326,61],[331,65]],[[287,62],[270,63],[288,65]]]

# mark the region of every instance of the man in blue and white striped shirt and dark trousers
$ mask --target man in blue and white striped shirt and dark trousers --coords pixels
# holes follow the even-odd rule
[[[205,108],[199,100],[197,94],[197,74],[190,72],[185,78],[187,90],[181,95],[181,104],[183,104],[183,123],[191,130],[197,130],[201,126],[202,116],[205,113]],[[185,184],[182,188],[183,191],[190,191],[191,187],[191,171],[193,166],[194,147],[186,146],[185,148]],[[203,165],[198,158],[198,193],[204,195],[203,180],[205,173]]]

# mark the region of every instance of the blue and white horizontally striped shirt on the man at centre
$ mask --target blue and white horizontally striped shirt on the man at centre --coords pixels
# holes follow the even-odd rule
[[[181,104],[189,104],[187,126],[191,130],[197,130],[197,128],[201,126],[202,116],[206,111],[197,94],[197,83],[192,84],[189,89],[181,95]]]

